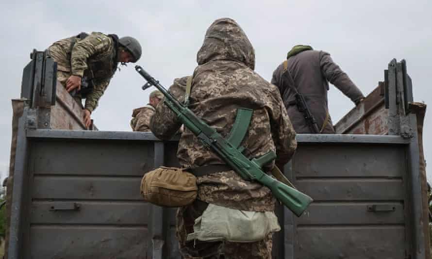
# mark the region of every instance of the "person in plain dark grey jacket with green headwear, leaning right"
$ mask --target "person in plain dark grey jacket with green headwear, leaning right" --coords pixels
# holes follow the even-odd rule
[[[329,82],[356,105],[365,98],[348,75],[332,61],[329,53],[313,50],[310,46],[294,46],[288,52],[287,60],[273,72],[271,83],[279,87],[297,133],[335,133],[328,108]],[[307,108],[315,117],[316,130],[305,119],[296,92],[304,97]]]

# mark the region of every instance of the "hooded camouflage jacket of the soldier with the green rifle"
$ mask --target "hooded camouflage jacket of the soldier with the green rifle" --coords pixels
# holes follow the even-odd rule
[[[297,147],[295,131],[276,86],[253,71],[255,54],[249,39],[235,21],[216,20],[205,35],[193,74],[189,108],[227,137],[238,108],[253,109],[242,146],[249,158],[276,151],[278,164],[289,161]],[[184,99],[186,78],[176,79],[169,92]],[[150,129],[160,139],[170,139],[181,122],[162,103],[150,120]],[[224,162],[188,129],[180,138],[177,157],[183,167],[198,167]],[[274,162],[265,168],[269,172]],[[240,178],[234,171],[199,177],[198,198],[239,210],[271,211],[275,199],[270,190]]]

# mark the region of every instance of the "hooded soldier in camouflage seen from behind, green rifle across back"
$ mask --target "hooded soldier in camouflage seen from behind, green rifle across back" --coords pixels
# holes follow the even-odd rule
[[[277,153],[276,164],[288,162],[297,147],[295,131],[278,88],[253,71],[254,49],[240,26],[229,18],[216,20],[205,34],[197,62],[191,82],[190,110],[227,137],[237,109],[253,109],[249,129],[241,144],[246,147],[245,154],[252,159],[273,150]],[[186,78],[176,79],[169,92],[182,101],[185,85]],[[180,127],[181,122],[165,103],[156,107],[150,120],[150,129],[155,136],[170,139]],[[216,259],[223,258],[223,254],[230,259],[270,259],[271,232],[274,230],[256,240],[249,238],[256,234],[252,230],[242,240],[230,240],[226,236],[218,237],[216,232],[242,229],[243,225],[223,229],[230,226],[223,222],[216,226],[220,227],[217,231],[209,231],[216,235],[211,240],[200,239],[200,233],[197,233],[198,219],[203,222],[210,208],[217,208],[215,211],[221,216],[240,210],[242,213],[274,215],[275,199],[270,190],[238,176],[188,129],[181,135],[177,157],[182,167],[206,170],[205,174],[197,176],[198,199],[177,212],[177,237],[183,257]],[[264,170],[270,172],[273,166],[275,162],[267,164]]]

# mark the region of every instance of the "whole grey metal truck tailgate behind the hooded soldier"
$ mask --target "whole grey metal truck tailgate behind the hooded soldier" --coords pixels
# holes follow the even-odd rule
[[[139,194],[155,165],[177,165],[176,141],[150,133],[28,129],[23,258],[180,258],[175,210]],[[285,174],[315,202],[283,226],[274,259],[395,258],[410,253],[407,141],[299,135]],[[326,144],[321,143],[325,141]]]

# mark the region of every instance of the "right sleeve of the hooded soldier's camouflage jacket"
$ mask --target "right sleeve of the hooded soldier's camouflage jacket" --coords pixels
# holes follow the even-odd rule
[[[283,165],[291,159],[297,149],[296,131],[278,89],[274,85],[271,87],[274,89],[272,91],[274,104],[270,110],[271,134],[276,146],[276,164]]]

